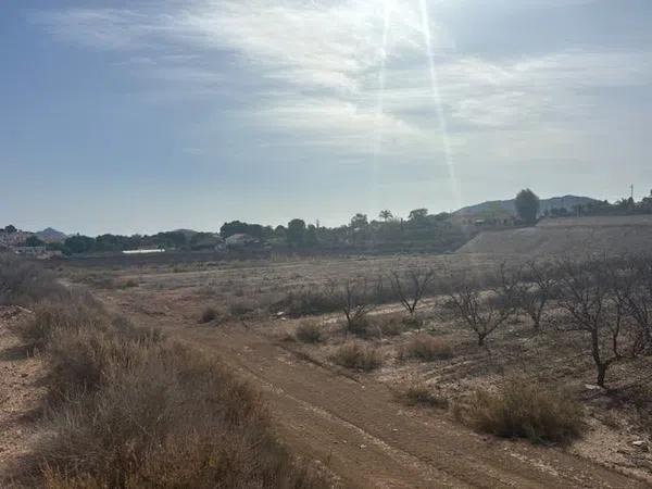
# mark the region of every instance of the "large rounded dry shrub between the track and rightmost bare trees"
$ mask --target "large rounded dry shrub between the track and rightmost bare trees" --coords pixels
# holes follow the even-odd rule
[[[462,416],[480,431],[534,442],[562,442],[580,435],[582,409],[569,396],[526,380],[499,393],[477,390]]]

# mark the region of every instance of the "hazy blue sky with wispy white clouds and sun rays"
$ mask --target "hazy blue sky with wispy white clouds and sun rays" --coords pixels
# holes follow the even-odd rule
[[[0,225],[339,225],[652,188],[649,0],[4,0]]]

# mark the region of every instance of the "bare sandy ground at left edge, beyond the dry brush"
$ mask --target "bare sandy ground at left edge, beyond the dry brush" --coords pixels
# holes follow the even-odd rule
[[[10,327],[29,311],[0,306],[0,484],[8,484],[21,456],[37,437],[36,419],[45,394],[45,368],[36,356],[27,356]]]

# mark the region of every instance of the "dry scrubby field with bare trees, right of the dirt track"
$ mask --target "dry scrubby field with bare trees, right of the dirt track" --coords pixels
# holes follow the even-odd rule
[[[510,266],[424,256],[242,263],[189,269],[174,285],[161,271],[139,271],[137,293],[161,287],[179,303],[210,298],[227,308],[247,298],[248,327],[298,339],[292,349],[318,364],[388,383],[410,405],[450,405],[451,415],[501,437],[579,437],[582,447],[593,443],[582,454],[611,462],[628,451],[637,457],[628,463],[645,467],[648,452],[630,443],[649,443],[652,431],[643,388],[652,372],[651,264],[641,256]],[[201,309],[193,311],[196,322]],[[505,381],[514,374],[523,379]],[[595,455],[592,430],[611,430],[618,444]]]

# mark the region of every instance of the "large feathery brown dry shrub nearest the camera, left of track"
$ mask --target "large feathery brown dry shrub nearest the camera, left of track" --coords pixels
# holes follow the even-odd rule
[[[323,487],[278,444],[259,394],[178,344],[143,346],[49,419],[50,487]]]

